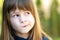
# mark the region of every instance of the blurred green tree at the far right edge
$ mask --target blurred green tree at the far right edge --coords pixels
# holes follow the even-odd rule
[[[54,37],[57,37],[59,34],[59,15],[57,11],[58,3],[57,0],[53,1],[53,4],[51,6],[51,27],[52,27],[52,34]]]

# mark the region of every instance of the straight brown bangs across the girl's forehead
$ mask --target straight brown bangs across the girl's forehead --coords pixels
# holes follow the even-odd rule
[[[32,11],[32,5],[30,0],[6,0],[4,4],[4,9],[8,13],[12,10],[16,10],[16,8]]]

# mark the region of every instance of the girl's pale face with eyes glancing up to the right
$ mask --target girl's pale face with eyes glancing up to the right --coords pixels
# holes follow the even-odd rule
[[[28,33],[33,28],[35,20],[30,11],[16,9],[10,12],[10,22],[15,31]]]

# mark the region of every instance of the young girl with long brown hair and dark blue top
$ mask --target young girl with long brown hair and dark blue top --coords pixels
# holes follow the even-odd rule
[[[52,40],[41,28],[32,0],[4,0],[1,40]]]

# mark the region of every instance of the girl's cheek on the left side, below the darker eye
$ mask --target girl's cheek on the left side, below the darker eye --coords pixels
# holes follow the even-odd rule
[[[12,27],[13,27],[16,31],[21,30],[21,25],[20,25],[20,23],[19,23],[18,18],[10,18],[10,22],[11,22]]]

